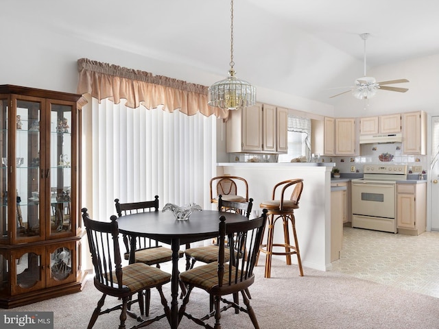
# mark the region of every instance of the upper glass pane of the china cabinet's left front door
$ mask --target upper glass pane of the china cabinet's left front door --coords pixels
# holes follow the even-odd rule
[[[16,117],[9,127],[16,132],[15,158],[3,158],[11,169],[15,167],[16,182],[10,184],[16,191],[8,191],[8,205],[16,202],[16,239],[29,241],[29,237],[44,237],[41,230],[42,210],[40,209],[40,116],[42,101],[16,100]],[[15,128],[15,129],[13,129]],[[13,152],[10,152],[13,154]],[[13,198],[13,199],[11,199]],[[10,224],[14,223],[10,221]],[[14,231],[12,231],[14,232]]]

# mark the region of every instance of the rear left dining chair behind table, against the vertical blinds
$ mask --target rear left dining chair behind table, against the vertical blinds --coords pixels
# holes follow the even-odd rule
[[[158,195],[154,197],[154,200],[143,202],[119,202],[119,199],[115,199],[116,212],[119,217],[124,215],[132,215],[139,212],[158,211]],[[134,239],[134,240],[133,240]],[[123,257],[129,260],[130,263],[144,263],[146,265],[160,268],[162,263],[167,263],[172,260],[172,250],[168,247],[163,247],[158,244],[158,241],[150,239],[144,236],[133,236],[123,234],[123,243],[126,248],[126,252]],[[134,252],[134,259],[130,259],[131,245],[136,245]],[[178,252],[178,256],[181,258],[184,256],[184,252]],[[184,289],[185,287],[182,287]],[[145,308],[141,308],[141,315],[143,312],[145,316],[150,314],[150,290],[145,291]],[[140,298],[139,298],[140,300]]]

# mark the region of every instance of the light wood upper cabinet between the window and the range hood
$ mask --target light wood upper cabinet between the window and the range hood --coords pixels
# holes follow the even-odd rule
[[[322,156],[355,155],[355,119],[311,120],[311,152]]]

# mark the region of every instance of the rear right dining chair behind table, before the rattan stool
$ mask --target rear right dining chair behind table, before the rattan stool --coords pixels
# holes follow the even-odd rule
[[[222,195],[218,197],[218,210],[220,212],[234,212],[247,218],[250,218],[252,212],[253,199],[250,198],[248,202],[231,202],[225,201]],[[218,244],[217,241],[212,245],[205,245],[202,247],[193,247],[185,250],[186,255],[186,270],[192,269],[195,262],[213,263],[217,261]],[[228,259],[228,250],[226,250],[226,258]]]

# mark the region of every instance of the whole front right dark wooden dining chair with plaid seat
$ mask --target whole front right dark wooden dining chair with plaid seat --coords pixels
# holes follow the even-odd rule
[[[186,316],[206,328],[221,329],[221,313],[228,308],[235,308],[235,310],[248,313],[254,328],[259,329],[256,315],[250,306],[248,287],[254,283],[253,269],[266,220],[266,209],[263,209],[261,217],[251,221],[226,223],[226,215],[219,217],[217,261],[180,273],[180,280],[187,285],[187,293],[178,312],[179,320]],[[230,258],[225,257],[226,249],[228,249]],[[244,250],[244,254],[236,252],[241,250]],[[189,296],[195,287],[209,293],[215,301],[214,309],[204,317],[195,317],[186,312]],[[245,308],[239,306],[235,297],[233,302],[225,297],[237,293],[241,293]],[[210,317],[215,317],[214,327],[206,323]]]

